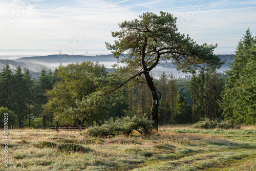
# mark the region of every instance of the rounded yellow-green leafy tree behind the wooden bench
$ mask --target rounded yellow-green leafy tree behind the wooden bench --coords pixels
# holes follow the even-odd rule
[[[58,81],[53,89],[47,92],[50,100],[44,106],[45,113],[53,113],[56,120],[62,123],[83,124],[88,113],[75,110],[78,107],[77,101],[89,100],[89,97],[90,100],[94,100],[95,96],[92,93],[98,91],[101,86],[96,79],[105,76],[105,67],[99,65],[98,62],[77,62],[71,63],[67,67],[60,66],[56,73]],[[92,104],[87,103],[86,105],[91,106]]]

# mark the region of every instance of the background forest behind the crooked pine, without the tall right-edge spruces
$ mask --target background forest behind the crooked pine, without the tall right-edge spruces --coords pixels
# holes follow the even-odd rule
[[[121,70],[108,73],[97,62],[77,62],[59,66],[54,72],[42,69],[38,79],[32,80],[28,69],[17,67],[12,72],[7,64],[0,73],[2,110],[10,110],[16,118],[12,126],[20,129],[46,129],[51,124],[92,126],[111,117],[150,114],[150,92],[142,77],[112,95],[101,96],[124,79]],[[221,116],[217,104],[223,86],[221,74],[201,71],[199,75],[177,78],[163,73],[154,82],[162,93],[160,124],[193,123],[203,117]],[[208,101],[207,93],[211,94]]]

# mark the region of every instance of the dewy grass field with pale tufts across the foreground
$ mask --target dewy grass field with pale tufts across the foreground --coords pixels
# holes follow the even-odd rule
[[[3,136],[4,136],[4,131]],[[162,126],[143,137],[93,138],[86,132],[9,130],[0,170],[256,170],[256,126],[195,130]]]

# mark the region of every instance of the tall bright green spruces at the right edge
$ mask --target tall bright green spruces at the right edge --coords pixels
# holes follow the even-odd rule
[[[256,37],[246,31],[238,42],[220,102],[225,118],[236,123],[256,123]]]

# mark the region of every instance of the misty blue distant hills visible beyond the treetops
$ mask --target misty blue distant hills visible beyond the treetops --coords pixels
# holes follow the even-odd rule
[[[233,62],[233,56],[232,55],[219,55],[222,61],[225,61],[225,64],[218,70],[219,72],[229,70],[229,63]],[[22,57],[15,60],[0,60],[0,70],[2,71],[3,67],[6,66],[6,63],[9,63],[11,70],[15,70],[18,66],[20,66],[22,69],[25,67],[29,69],[30,73],[33,75],[33,77],[38,77],[39,72],[42,70],[42,68],[46,68],[46,70],[55,70],[55,67],[58,67],[60,63],[66,64],[67,63],[75,63],[75,62],[82,62],[82,61],[92,61],[96,62],[99,61],[100,63],[103,63],[106,65],[106,63],[115,63],[117,62],[117,59],[114,57],[113,54],[111,55],[99,55],[99,56],[83,56],[83,55],[48,55],[48,56],[33,56],[33,57]],[[108,67],[107,71],[112,72],[111,67]],[[163,62],[160,63],[156,67],[156,69],[153,70],[153,73],[155,74],[155,77],[160,77],[162,72],[165,72],[166,74],[170,74],[171,72],[176,75],[182,75],[184,74],[177,72],[176,66],[172,62]],[[185,74],[186,75],[186,74]]]

